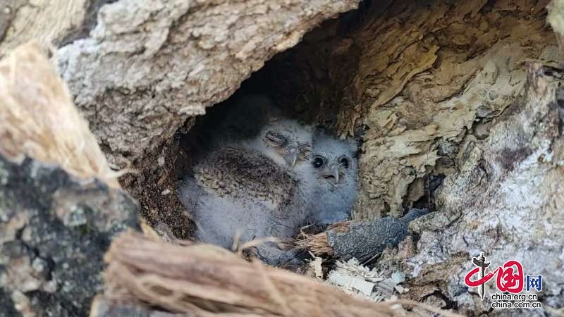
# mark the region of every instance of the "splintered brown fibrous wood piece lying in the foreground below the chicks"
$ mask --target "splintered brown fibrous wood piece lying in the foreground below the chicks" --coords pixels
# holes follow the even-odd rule
[[[159,254],[159,256],[154,256]],[[206,244],[178,246],[130,232],[106,254],[106,294],[193,316],[396,316],[305,276]]]

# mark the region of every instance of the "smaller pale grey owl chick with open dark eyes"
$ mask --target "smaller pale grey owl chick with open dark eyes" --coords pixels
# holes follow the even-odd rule
[[[309,223],[327,225],[346,220],[357,199],[357,144],[317,130],[313,136],[314,192],[309,204]]]

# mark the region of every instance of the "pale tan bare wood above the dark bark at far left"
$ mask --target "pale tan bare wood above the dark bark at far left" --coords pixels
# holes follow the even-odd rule
[[[56,163],[119,188],[88,124],[37,42],[0,61],[0,154]]]

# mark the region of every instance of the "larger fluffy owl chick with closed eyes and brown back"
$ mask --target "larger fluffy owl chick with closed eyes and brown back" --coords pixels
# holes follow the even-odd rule
[[[180,201],[197,223],[202,242],[231,248],[234,239],[293,237],[305,222],[313,173],[312,132],[292,120],[268,123],[257,137],[212,151],[180,185]],[[274,244],[257,254],[278,265],[292,258]]]

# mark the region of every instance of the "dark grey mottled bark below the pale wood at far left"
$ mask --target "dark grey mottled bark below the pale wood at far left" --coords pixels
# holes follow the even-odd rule
[[[87,316],[104,252],[137,209],[95,178],[0,156],[0,316]]]

